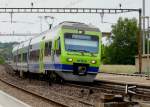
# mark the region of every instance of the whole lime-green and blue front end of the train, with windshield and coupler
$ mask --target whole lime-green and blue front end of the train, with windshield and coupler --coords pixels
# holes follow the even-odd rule
[[[62,28],[61,77],[69,81],[93,82],[101,60],[101,32],[81,24]]]

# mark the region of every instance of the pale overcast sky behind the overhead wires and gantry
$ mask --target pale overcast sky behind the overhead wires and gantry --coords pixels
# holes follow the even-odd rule
[[[146,16],[150,16],[150,0],[146,1]],[[142,0],[0,0],[0,7],[31,7],[31,2],[34,3],[33,7],[43,8],[142,8]],[[101,16],[99,14],[13,14],[13,21],[18,23],[10,23],[10,14],[0,14],[0,33],[39,33],[40,19],[39,16],[53,16],[54,25],[62,21],[78,21],[84,23],[91,23],[101,31],[111,31],[111,25],[116,23],[119,17],[133,18],[137,17],[136,12],[107,15],[104,14],[103,21],[109,23],[101,23]],[[42,18],[42,30],[48,29],[48,25],[44,18]],[[29,37],[0,37],[0,42],[10,41],[23,41]]]

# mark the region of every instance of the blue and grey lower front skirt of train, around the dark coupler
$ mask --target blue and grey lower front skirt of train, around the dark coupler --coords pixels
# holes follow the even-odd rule
[[[67,81],[93,82],[99,72],[98,67],[88,67],[86,74],[74,73],[76,71],[74,71],[73,65],[55,65],[55,68],[57,68],[56,73]]]

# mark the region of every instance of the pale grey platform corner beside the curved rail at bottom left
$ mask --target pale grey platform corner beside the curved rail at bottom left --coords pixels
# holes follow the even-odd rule
[[[0,90],[0,107],[31,107]]]

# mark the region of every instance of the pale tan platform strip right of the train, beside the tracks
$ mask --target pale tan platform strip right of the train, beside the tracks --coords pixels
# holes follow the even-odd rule
[[[126,75],[99,73],[96,77],[96,80],[150,87],[150,78],[148,79],[148,77],[144,77],[144,76],[143,77],[126,76]]]

